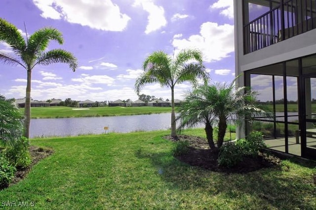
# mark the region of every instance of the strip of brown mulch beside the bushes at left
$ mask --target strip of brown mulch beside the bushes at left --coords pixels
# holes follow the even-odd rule
[[[31,171],[34,165],[36,165],[40,160],[54,153],[53,150],[50,150],[48,148],[42,149],[34,146],[31,146],[29,150],[32,158],[32,163],[27,168],[17,169],[15,177],[12,179],[12,182],[9,184],[9,186],[19,182],[20,180],[23,180]]]

